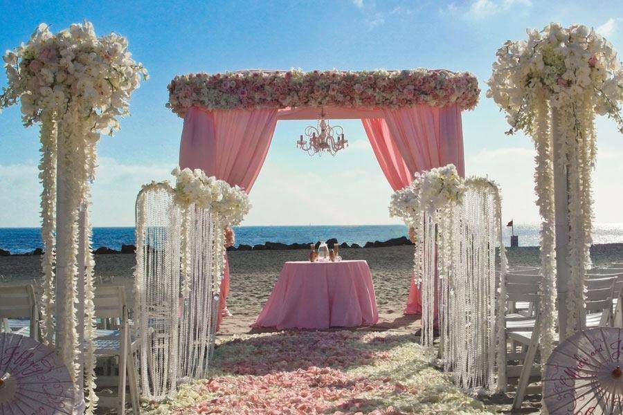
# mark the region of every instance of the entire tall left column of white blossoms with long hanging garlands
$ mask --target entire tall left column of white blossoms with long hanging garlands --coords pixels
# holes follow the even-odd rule
[[[129,113],[130,95],[141,79],[147,79],[147,71],[132,59],[125,37],[114,33],[98,37],[87,21],[55,35],[41,24],[26,44],[8,50],[3,59],[8,86],[0,95],[0,107],[19,101],[24,125],[41,124],[42,339],[46,344],[55,343],[74,382],[78,382],[80,335],[84,332],[88,344],[84,385],[90,414],[97,397],[93,393],[94,262],[89,182],[95,175],[100,133],[113,135],[120,128],[118,118]],[[82,275],[84,302],[78,298],[80,269],[86,270]],[[55,286],[61,285],[64,295],[55,298]],[[55,311],[57,302],[61,308]],[[84,304],[84,327],[78,326],[81,310],[77,304]],[[62,313],[55,315],[59,310]],[[56,325],[62,330],[57,330],[60,335],[54,339]]]

